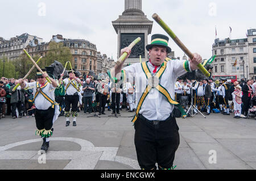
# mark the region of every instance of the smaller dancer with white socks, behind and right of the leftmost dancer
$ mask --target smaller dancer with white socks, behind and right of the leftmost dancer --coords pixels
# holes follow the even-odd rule
[[[63,77],[63,74],[60,75]],[[77,113],[77,104],[79,103],[79,83],[81,83],[81,80],[77,77],[75,77],[75,71],[72,72],[72,70],[68,71],[69,78],[65,78],[63,80],[63,84],[65,86],[65,110],[64,110],[64,116],[66,117],[66,127],[69,126],[69,116],[72,115],[73,117],[73,126],[76,126],[76,117],[78,116]],[[71,108],[72,105],[72,108]],[[70,112],[71,110],[71,112]]]

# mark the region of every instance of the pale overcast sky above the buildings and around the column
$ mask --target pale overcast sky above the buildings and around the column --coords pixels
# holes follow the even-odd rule
[[[45,14],[43,11],[45,6]],[[117,59],[117,34],[112,26],[125,10],[125,0],[10,0],[0,2],[0,36],[10,39],[24,32],[49,41],[57,33],[69,39],[85,39],[97,50]],[[255,1],[220,0],[142,0],[147,18],[157,13],[191,52],[209,58],[217,37],[246,38],[249,28],[256,28]],[[45,16],[42,16],[45,15]],[[154,21],[154,20],[153,20]],[[151,35],[166,32],[154,22]],[[151,39],[148,36],[148,41]],[[175,56],[184,53],[170,39]]]

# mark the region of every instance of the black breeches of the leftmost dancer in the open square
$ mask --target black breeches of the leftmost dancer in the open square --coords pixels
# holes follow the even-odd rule
[[[54,117],[55,108],[49,107],[48,110],[35,110],[36,128],[39,130],[52,128],[52,119]]]

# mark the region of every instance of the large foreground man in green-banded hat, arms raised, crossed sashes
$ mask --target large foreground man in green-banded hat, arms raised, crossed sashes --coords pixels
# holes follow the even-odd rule
[[[152,35],[151,44],[146,46],[150,61],[136,63],[123,70],[125,61],[122,61],[111,70],[111,76],[116,79],[120,78],[115,77],[120,72],[131,83],[135,78],[137,90],[144,91],[136,92],[137,110],[132,120],[135,128],[135,149],[141,169],[156,169],[155,163],[158,163],[159,169],[173,169],[175,151],[179,146],[179,127],[172,112],[174,104],[177,105],[173,100],[174,84],[178,76],[197,69],[197,64],[202,60],[195,53],[189,61],[165,61],[167,53],[171,52],[168,40],[165,35]],[[127,58],[131,50],[128,47],[123,48],[121,55],[124,53],[127,53]]]

